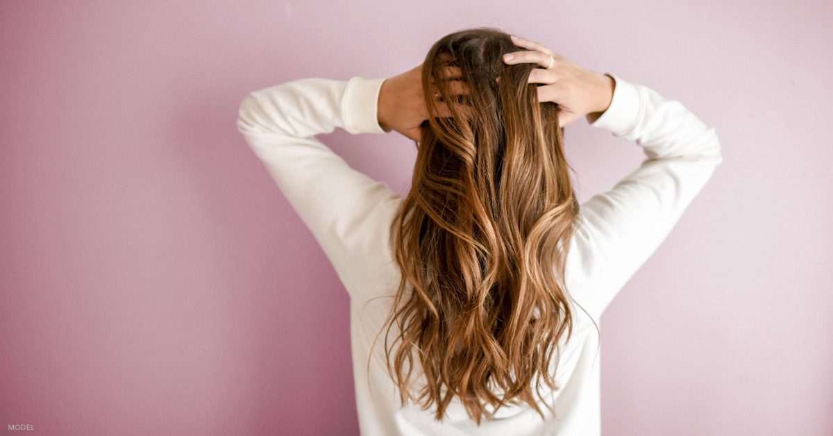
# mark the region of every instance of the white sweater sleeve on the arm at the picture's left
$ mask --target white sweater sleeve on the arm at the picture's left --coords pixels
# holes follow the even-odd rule
[[[237,129],[332,262],[347,291],[382,262],[392,212],[401,196],[351,168],[316,138],[387,133],[377,121],[384,78],[303,78],[252,92],[240,104]],[[367,283],[367,282],[366,282]]]

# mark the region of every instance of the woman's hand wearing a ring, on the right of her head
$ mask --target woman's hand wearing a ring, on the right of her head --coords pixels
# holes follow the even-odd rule
[[[542,67],[531,71],[528,83],[543,83],[538,87],[538,100],[558,104],[561,127],[582,116],[586,116],[587,123],[593,123],[610,107],[616,86],[610,76],[581,68],[540,43],[515,36],[512,36],[512,42],[528,50],[507,53],[503,62],[537,63]],[[551,65],[550,56],[553,59]],[[547,65],[550,68],[546,68]]]

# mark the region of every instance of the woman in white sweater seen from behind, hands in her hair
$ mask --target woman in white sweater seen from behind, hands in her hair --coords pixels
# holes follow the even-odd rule
[[[646,159],[578,204],[563,126],[581,117]],[[601,433],[601,313],[722,161],[681,103],[494,28],[396,77],[256,91],[237,127],[350,293],[373,435]],[[416,141],[407,196],[315,138],[335,128]]]

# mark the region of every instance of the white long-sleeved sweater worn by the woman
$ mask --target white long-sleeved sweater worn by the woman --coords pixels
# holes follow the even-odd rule
[[[600,348],[594,322],[599,323],[611,299],[666,238],[722,161],[715,128],[651,88],[611,77],[616,81],[611,105],[591,125],[636,143],[646,158],[613,188],[581,204],[566,259],[567,288],[580,307],[573,306],[573,337],[561,343],[561,359],[552,368],[561,388],[546,393],[556,416],[541,420],[529,408],[512,406],[500,408],[499,419],[484,420],[479,428],[456,399],[442,423],[433,419],[431,410],[413,403],[401,408],[385,366],[384,333],[367,368],[371,344],[399,283],[388,228],[402,196],[351,168],[316,135],[335,128],[352,134],[387,133],[377,121],[384,78],[304,78],[255,91],[242,101],[237,128],[350,294],[353,375],[363,435],[601,433]],[[391,340],[397,333],[392,328]],[[542,410],[546,413],[546,407]]]

